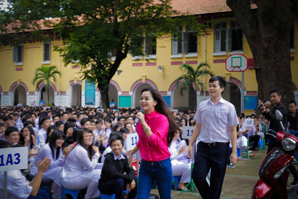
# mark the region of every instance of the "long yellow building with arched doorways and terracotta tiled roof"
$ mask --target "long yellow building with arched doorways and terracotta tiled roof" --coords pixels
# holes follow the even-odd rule
[[[200,62],[207,62],[215,75],[224,76],[227,88],[224,99],[232,102],[240,113],[241,108],[241,72],[228,72],[225,69],[225,60],[232,54],[242,54],[248,58],[248,69],[244,72],[244,108],[249,114],[256,108],[257,82],[253,57],[248,43],[235,22],[232,12],[225,4],[225,0],[219,2],[201,3],[192,1],[173,1],[173,7],[180,11],[188,11],[204,20],[215,19],[218,24],[211,27],[206,35],[197,37],[187,27],[180,27],[182,40],[174,41],[170,35],[156,38],[157,47],[153,49],[150,43],[155,38],[146,37],[145,52],[147,57],[128,57],[122,61],[118,74],[116,73],[110,82],[109,98],[114,99],[119,107],[137,107],[139,105],[140,91],[146,87],[152,87],[160,91],[164,100],[172,109],[195,109],[202,100],[208,99],[208,80],[206,77],[206,95],[204,91],[195,92],[193,88],[184,92],[183,97],[179,95],[179,85],[174,80],[181,75],[179,66],[182,63],[196,67]],[[40,65],[56,65],[62,73],[56,83],[51,84],[50,103],[61,106],[99,106],[100,92],[92,85],[86,85],[85,80],[79,79],[79,66],[75,62],[67,67],[59,56],[53,51],[53,47],[61,45],[60,38],[51,34],[51,30],[45,29],[52,38],[51,42],[26,40],[18,47],[6,46],[0,49],[0,92],[1,105],[14,105],[18,101],[30,105],[40,98],[47,101],[45,84],[39,85],[36,90],[32,84],[34,70]],[[298,100],[298,27],[297,14],[292,32],[291,44],[291,68],[293,88]],[[294,34],[296,33],[296,34]],[[146,61],[145,58],[149,60]],[[158,70],[158,66],[159,69]],[[87,91],[88,90],[88,91]],[[86,95],[85,95],[86,94]],[[87,100],[87,101],[86,101]]]

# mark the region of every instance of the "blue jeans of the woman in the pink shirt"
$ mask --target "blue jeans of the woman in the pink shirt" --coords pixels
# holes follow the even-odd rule
[[[172,166],[170,158],[157,162],[141,161],[137,199],[148,199],[152,184],[156,181],[160,199],[171,198]]]

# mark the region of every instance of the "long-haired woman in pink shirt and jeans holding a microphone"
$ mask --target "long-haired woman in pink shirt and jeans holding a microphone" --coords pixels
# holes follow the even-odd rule
[[[143,89],[140,104],[145,112],[143,114],[139,111],[136,115],[140,119],[136,126],[139,141],[129,154],[130,165],[138,150],[142,157],[137,199],[149,198],[154,180],[160,199],[170,199],[172,167],[168,146],[175,132],[180,132],[180,128],[158,91],[152,88]]]

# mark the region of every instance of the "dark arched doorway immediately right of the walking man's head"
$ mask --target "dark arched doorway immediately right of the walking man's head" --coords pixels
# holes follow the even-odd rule
[[[241,113],[241,90],[235,83],[226,83],[222,97],[235,106],[237,115]]]

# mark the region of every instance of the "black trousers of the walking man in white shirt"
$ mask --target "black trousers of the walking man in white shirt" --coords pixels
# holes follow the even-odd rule
[[[219,199],[227,165],[229,145],[207,146],[199,142],[192,178],[203,199]],[[210,186],[206,177],[211,168]]]

